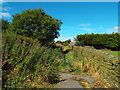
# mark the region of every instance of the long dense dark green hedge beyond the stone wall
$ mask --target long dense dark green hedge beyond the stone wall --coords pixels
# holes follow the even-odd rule
[[[94,46],[95,48],[108,48],[120,50],[120,34],[83,34],[77,35],[77,45]]]

